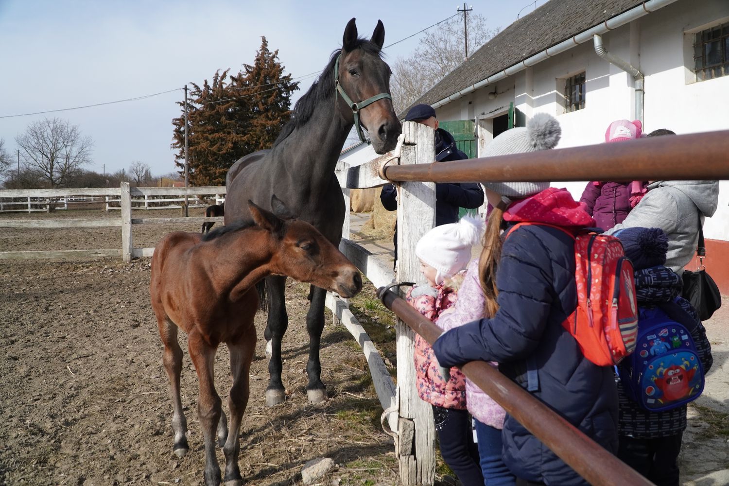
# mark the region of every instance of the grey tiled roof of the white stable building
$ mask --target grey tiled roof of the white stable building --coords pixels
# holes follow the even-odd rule
[[[483,44],[416,103],[440,101],[642,3],[639,0],[548,1]]]

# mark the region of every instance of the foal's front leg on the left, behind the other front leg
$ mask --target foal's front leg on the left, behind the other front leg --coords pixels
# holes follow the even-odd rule
[[[205,439],[205,484],[219,485],[220,467],[215,455],[215,430],[220,421],[222,407],[213,380],[216,348],[208,345],[198,332],[193,331],[187,335],[187,349],[190,350],[190,358],[195,364],[200,383],[198,418],[200,418],[200,427],[203,429],[203,439]]]

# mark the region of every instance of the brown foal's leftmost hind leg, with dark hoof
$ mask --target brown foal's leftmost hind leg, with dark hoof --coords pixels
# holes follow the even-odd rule
[[[170,379],[172,391],[172,431],[175,434],[175,442],[172,450],[179,458],[183,458],[190,447],[187,445],[187,420],[182,412],[182,401],[180,400],[180,372],[182,372],[182,348],[177,342],[177,326],[168,318],[158,318],[157,327],[160,329],[160,337],[165,345],[162,361],[165,365],[167,377]]]

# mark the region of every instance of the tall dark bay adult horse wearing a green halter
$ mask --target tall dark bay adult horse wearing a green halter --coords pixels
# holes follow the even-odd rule
[[[313,224],[335,245],[339,244],[345,205],[334,170],[355,122],[352,103],[359,124],[370,133],[375,152],[382,154],[394,149],[402,130],[389,99],[391,71],[381,59],[384,39],[385,28],[381,22],[378,21],[372,38],[367,40],[358,38],[354,19],[349,21],[342,49],[332,54],[319,79],[297,101],[292,121],[284,127],[273,147],[246,155],[228,171],[225,224],[248,216],[246,200],[265,201],[275,192],[289,208],[296,209],[301,219]],[[265,330],[270,350],[266,403],[273,406],[285,399],[281,382],[281,339],[289,318],[284,298],[286,278],[270,277],[265,283],[270,302]],[[327,396],[321,383],[319,361],[326,291],[312,287],[309,297],[306,389],[308,400],[319,403]]]

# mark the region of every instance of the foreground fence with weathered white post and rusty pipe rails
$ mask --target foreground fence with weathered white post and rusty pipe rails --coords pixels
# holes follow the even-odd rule
[[[341,163],[337,169],[340,182],[346,182],[342,184],[345,196],[348,195],[348,189],[378,187],[390,182],[399,185],[397,246],[400,251],[397,275],[394,275],[399,282],[425,283],[418,271],[417,257],[407,249],[415,248],[421,236],[434,226],[434,183],[437,182],[729,179],[729,131],[644,138],[628,144],[599,144],[483,159],[433,162],[434,132],[414,122],[405,122],[402,130],[402,139],[393,152],[358,167],[348,168]],[[702,163],[687,163],[692,160],[701,160]],[[348,222],[344,226],[346,235]],[[375,286],[386,285],[392,280],[392,272],[383,268],[383,264],[373,259],[364,248],[343,240],[340,250]],[[402,299],[395,298],[392,292],[383,294],[387,294],[383,301],[399,317],[397,387],[388,377],[375,380],[375,389],[385,408],[383,419],[388,420],[395,438],[400,481],[408,486],[432,485],[435,472],[432,411],[429,405],[418,398],[415,387],[413,329],[418,329],[431,342],[439,331],[429,321],[418,318],[417,312],[406,309],[409,306],[403,307]],[[396,299],[399,300],[399,310],[396,309],[397,305],[393,305]],[[346,302],[340,303],[336,297],[332,297],[332,302],[336,305],[330,305],[330,308],[336,317],[351,320]],[[402,316],[405,316],[405,321],[400,318]],[[534,399],[530,393],[515,387],[488,365],[480,365],[484,364],[469,363],[463,369],[475,383],[489,391],[504,409],[591,484],[651,484]],[[373,378],[374,375],[375,369]],[[389,380],[389,383],[378,383],[385,380]]]

